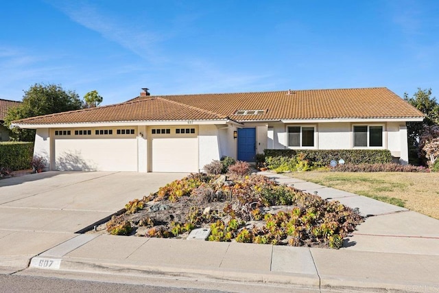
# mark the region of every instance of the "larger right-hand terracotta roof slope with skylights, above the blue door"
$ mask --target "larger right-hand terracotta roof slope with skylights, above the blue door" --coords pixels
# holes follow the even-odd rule
[[[290,91],[289,95],[288,91],[273,91],[161,97],[222,113],[237,121],[423,117],[423,113],[386,88]],[[264,113],[234,115],[237,110],[264,110]]]

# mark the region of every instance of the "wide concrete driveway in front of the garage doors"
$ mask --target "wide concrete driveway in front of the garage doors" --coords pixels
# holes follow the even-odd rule
[[[43,172],[0,180],[0,266],[16,265],[182,173]]]

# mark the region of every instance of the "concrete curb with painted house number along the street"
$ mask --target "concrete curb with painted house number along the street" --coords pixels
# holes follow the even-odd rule
[[[91,274],[117,274],[134,277],[172,277],[193,281],[230,281],[251,285],[280,285],[296,290],[337,292],[418,292],[418,284],[391,283],[377,279],[356,279],[338,276],[311,276],[286,272],[233,270],[195,266],[145,265],[144,263],[115,263],[92,259],[34,257],[29,268]],[[437,283],[424,283],[423,288],[439,290]],[[432,291],[435,292],[435,291]]]

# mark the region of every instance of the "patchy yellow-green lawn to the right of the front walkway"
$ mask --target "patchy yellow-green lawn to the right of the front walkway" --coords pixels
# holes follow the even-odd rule
[[[439,219],[439,173],[300,172],[288,175]]]

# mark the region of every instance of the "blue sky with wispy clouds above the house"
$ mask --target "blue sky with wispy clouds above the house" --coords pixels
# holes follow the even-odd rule
[[[439,91],[439,1],[2,1],[0,98],[60,84],[153,95]]]

